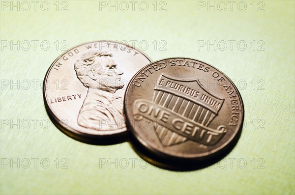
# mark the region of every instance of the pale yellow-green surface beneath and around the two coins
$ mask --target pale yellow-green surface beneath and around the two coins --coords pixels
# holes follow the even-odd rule
[[[41,2],[34,11],[29,1],[26,11],[27,5],[19,1],[20,10],[11,11],[1,1],[1,194],[295,193],[293,0],[244,1],[244,11],[240,1],[235,1],[233,11],[229,3],[222,11],[219,1],[216,11],[198,6],[214,1],[152,0],[147,1],[147,11],[140,10],[141,1],[134,11],[129,1],[127,11],[120,1],[118,11],[94,0],[48,1],[50,9],[43,11]],[[159,11],[164,5],[166,11]],[[60,11],[64,6],[67,11]],[[223,71],[237,85],[245,107],[244,127],[233,151],[210,167],[177,172],[147,164],[128,142],[89,145],[61,133],[49,120],[40,84],[50,64],[64,52],[61,46],[70,49],[95,40],[137,41],[135,47],[152,60],[191,57]],[[215,50],[200,47],[201,42],[214,40]],[[231,49],[232,40],[236,42]],[[11,41],[20,41],[20,48],[11,48]],[[32,41],[39,41],[36,48]],[[50,47],[43,43],[42,48],[42,41]],[[38,159],[36,167],[33,158]],[[61,168],[65,163],[67,168]]]

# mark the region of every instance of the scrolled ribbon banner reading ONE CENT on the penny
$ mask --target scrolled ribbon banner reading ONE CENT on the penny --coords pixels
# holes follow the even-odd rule
[[[211,129],[163,106],[143,99],[134,102],[133,117],[135,120],[147,118],[181,136],[206,145],[217,143],[226,133],[225,126],[221,125],[217,130]]]

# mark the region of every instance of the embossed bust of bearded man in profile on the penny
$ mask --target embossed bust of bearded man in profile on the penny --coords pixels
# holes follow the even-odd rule
[[[78,115],[80,126],[94,130],[115,130],[125,127],[122,98],[116,95],[123,88],[123,72],[109,51],[88,51],[75,62],[80,82],[88,88]]]

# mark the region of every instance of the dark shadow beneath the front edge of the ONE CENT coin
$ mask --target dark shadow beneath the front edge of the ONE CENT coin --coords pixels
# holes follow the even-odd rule
[[[232,140],[231,143],[224,147],[218,155],[211,156],[206,160],[160,158],[159,156],[149,152],[148,149],[146,149],[136,138],[134,138],[133,135],[129,135],[128,140],[135,153],[155,167],[172,171],[194,171],[214,165],[225,158],[236,146],[240,135],[241,131],[239,131],[238,135],[236,135],[236,139]]]

